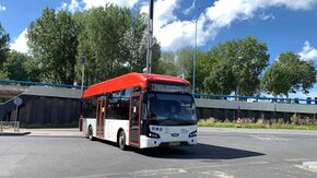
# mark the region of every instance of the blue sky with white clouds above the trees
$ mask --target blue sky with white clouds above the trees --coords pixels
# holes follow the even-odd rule
[[[27,52],[25,33],[44,8],[70,12],[115,3],[148,12],[149,0],[0,0],[0,23],[11,49]],[[219,43],[256,36],[267,43],[270,63],[281,52],[317,60],[317,0],[155,0],[154,36],[163,51],[195,45],[207,51]],[[291,95],[292,96],[292,95]],[[306,97],[298,93],[296,97]],[[309,96],[317,97],[317,85]]]

